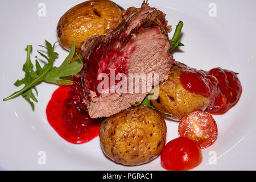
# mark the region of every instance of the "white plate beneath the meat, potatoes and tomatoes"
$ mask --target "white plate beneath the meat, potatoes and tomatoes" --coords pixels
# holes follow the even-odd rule
[[[46,5],[46,16],[38,16],[39,3]],[[13,85],[23,77],[26,60],[24,48],[34,47],[44,39],[53,43],[56,24],[61,15],[82,1],[7,1],[0,2],[1,23],[1,91],[4,98],[17,88]],[[141,6],[137,0],[115,1],[127,8]],[[183,52],[175,59],[191,67],[209,70],[222,67],[239,72],[243,85],[240,102],[227,114],[214,116],[218,125],[218,139],[203,150],[203,162],[196,170],[256,169],[255,122],[255,66],[256,66],[256,2],[251,1],[166,1],[150,0],[150,5],[167,14],[169,24],[183,20]],[[217,16],[209,16],[216,6]],[[210,13],[214,13],[210,11]],[[60,53],[56,65],[68,52]],[[33,57],[34,58],[34,57]],[[34,59],[33,59],[34,60]],[[162,170],[160,159],[138,167],[125,167],[107,159],[101,151],[99,139],[75,145],[66,142],[49,126],[46,106],[55,85],[38,86],[39,103],[35,111],[23,98],[0,101],[0,166],[3,169],[67,169],[67,170]],[[167,122],[167,141],[178,137],[177,123]],[[39,151],[46,152],[46,165],[38,163]],[[216,163],[209,163],[216,155]]]

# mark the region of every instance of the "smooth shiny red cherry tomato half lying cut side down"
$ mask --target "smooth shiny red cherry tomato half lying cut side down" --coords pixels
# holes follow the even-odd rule
[[[202,161],[201,148],[194,140],[179,137],[164,146],[161,166],[169,171],[185,171],[198,166]]]

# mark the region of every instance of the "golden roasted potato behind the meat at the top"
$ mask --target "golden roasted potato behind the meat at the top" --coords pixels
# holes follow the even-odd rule
[[[76,51],[80,44],[93,35],[103,35],[121,22],[123,9],[112,1],[91,0],[72,7],[59,20],[57,36],[61,46],[70,50],[73,41]]]

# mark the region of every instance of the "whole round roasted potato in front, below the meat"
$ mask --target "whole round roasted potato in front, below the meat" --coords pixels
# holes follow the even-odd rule
[[[125,166],[155,159],[166,144],[166,122],[148,107],[123,110],[102,122],[101,148],[105,155]]]

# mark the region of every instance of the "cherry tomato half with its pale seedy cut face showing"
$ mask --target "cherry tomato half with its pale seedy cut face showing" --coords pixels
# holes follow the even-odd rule
[[[201,148],[206,148],[217,139],[218,128],[212,115],[203,111],[195,111],[181,119],[179,135],[195,140]]]

